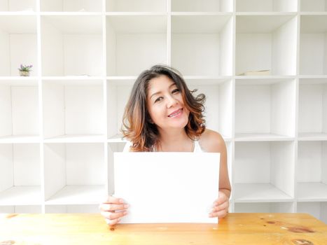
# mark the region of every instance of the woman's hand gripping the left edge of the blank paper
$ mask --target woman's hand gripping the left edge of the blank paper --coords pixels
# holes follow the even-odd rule
[[[99,206],[101,215],[104,216],[106,223],[116,225],[120,218],[127,215],[128,204],[121,198],[108,196]]]

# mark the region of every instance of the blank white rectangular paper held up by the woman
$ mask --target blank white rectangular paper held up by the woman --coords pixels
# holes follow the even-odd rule
[[[217,223],[219,153],[114,153],[115,197],[130,207],[120,223]]]

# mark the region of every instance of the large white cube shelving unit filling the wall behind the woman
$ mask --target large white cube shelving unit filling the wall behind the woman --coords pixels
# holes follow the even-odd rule
[[[325,0],[0,0],[0,212],[98,212],[134,80],[161,63],[207,96],[230,211],[327,223],[326,23]]]

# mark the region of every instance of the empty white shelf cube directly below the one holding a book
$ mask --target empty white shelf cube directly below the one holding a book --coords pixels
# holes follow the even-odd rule
[[[237,79],[235,137],[295,137],[295,79]]]

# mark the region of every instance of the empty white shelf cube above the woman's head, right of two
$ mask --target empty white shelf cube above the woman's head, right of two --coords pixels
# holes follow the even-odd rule
[[[172,15],[172,66],[184,76],[231,76],[232,26],[230,15]]]

